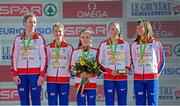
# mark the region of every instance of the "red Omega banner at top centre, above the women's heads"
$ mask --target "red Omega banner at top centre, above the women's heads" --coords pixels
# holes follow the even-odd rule
[[[73,1],[73,0],[72,0]],[[63,18],[119,18],[122,1],[63,2]],[[118,11],[117,11],[118,10]]]

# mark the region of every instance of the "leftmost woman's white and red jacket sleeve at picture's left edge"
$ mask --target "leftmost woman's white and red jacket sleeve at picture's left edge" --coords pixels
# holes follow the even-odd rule
[[[14,39],[14,43],[12,46],[12,60],[11,60],[11,67],[12,67],[12,72],[13,76],[18,75],[17,72],[17,63],[18,63],[18,54],[19,54],[19,43],[18,43],[18,37],[16,36]]]

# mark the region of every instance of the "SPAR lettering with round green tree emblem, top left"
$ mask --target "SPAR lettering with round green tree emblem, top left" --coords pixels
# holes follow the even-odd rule
[[[44,9],[44,11],[43,11]],[[44,12],[44,13],[43,13]],[[44,14],[46,16],[54,16],[57,13],[57,7],[52,4],[42,4],[42,3],[36,3],[36,4],[0,4],[0,16],[5,17],[16,17],[16,16],[23,16],[27,13],[33,13],[36,16],[43,16]]]

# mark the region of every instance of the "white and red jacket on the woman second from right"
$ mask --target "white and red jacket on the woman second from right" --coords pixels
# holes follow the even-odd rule
[[[104,80],[127,80],[127,74],[119,74],[112,76],[112,71],[116,70],[130,70],[131,57],[130,47],[128,42],[123,39],[118,39],[118,45],[115,53],[117,59],[116,64],[112,62],[113,56],[110,49],[111,40],[102,41],[99,45],[97,60],[102,71],[104,71]],[[114,44],[112,47],[114,48]]]

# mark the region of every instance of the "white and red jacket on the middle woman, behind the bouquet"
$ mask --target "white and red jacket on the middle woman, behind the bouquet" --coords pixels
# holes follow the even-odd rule
[[[85,52],[85,56],[87,55],[87,48],[84,49]],[[90,58],[94,58],[96,59],[96,54],[97,54],[97,49],[96,48],[90,48]],[[72,65],[75,65],[75,63],[80,59],[80,57],[82,56],[82,49],[81,48],[77,48],[73,51],[72,57],[71,57],[71,72],[72,70]],[[96,76],[97,75],[93,75],[92,78],[89,78],[90,83],[87,83],[85,85],[85,89],[96,89]],[[79,84],[81,83],[82,78],[79,77],[79,75],[75,76],[75,88],[77,89]]]

